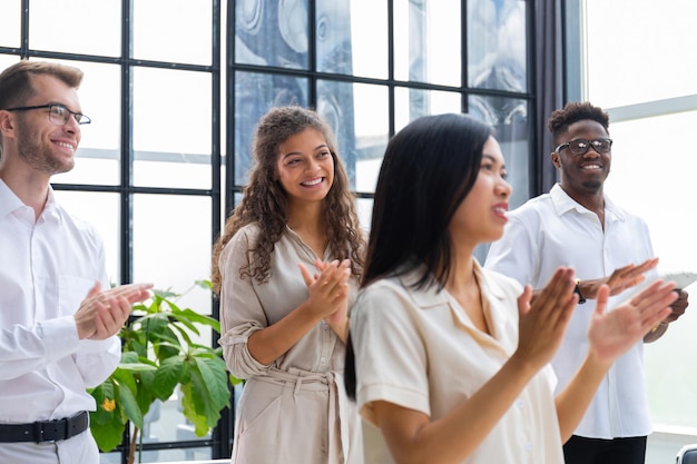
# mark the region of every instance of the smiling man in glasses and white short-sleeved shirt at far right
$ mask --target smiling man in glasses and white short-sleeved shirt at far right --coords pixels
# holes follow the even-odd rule
[[[559,182],[549,194],[510,211],[500,240],[491,245],[485,267],[522,285],[542,288],[559,266],[576,269],[577,306],[552,361],[560,392],[587,353],[587,329],[601,285],[610,287],[608,310],[628,298],[625,290],[657,276],[658,259],[646,223],[603,194],[610,172],[612,139],[609,116],[589,102],[570,102],[551,113],[553,166]],[[658,339],[668,323],[683,315],[687,293],[679,292],[673,313],[645,338]],[[566,464],[641,464],[651,432],[644,372],[644,347],[637,344],[610,368],[565,444]]]

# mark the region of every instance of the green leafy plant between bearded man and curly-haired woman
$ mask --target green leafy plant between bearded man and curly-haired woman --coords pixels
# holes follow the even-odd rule
[[[212,288],[209,280],[198,280],[196,286]],[[219,347],[196,343],[199,327],[219,334],[220,323],[179,308],[176,302],[185,294],[156,289],[151,298],[134,305],[136,317],[119,333],[121,363],[109,378],[89,391],[97,402],[97,411],[90,413],[90,430],[101,451],[114,450],[121,443],[128,422],[134,424],[131,464],[136,450],[141,448],[144,416],[156,401],[169,399],[178,387],[184,416],[196,435],[204,436],[229,405],[228,379],[238,382],[227,373]]]

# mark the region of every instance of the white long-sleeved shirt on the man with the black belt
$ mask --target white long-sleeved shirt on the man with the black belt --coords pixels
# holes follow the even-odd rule
[[[108,288],[96,231],[55,200],[35,211],[0,180],[0,423],[94,411],[120,359],[117,337],[79,340],[73,314],[95,283]]]

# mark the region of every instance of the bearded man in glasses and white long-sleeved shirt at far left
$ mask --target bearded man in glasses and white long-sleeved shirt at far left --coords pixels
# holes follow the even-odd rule
[[[0,462],[96,464],[87,387],[120,361],[117,332],[149,284],[109,288],[96,230],[57,201],[72,169],[82,72],[20,61],[0,73]]]

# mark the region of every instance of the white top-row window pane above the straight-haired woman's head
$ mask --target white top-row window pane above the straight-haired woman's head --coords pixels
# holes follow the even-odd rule
[[[460,86],[460,0],[395,0],[395,79]]]

